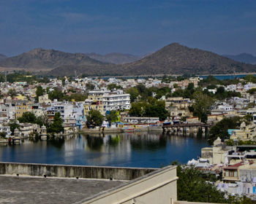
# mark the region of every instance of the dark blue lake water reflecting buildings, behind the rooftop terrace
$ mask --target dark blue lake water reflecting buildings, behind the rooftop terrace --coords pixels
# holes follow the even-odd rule
[[[104,137],[80,135],[48,141],[27,139],[19,145],[0,146],[0,160],[159,168],[175,160],[186,163],[197,158],[205,146],[206,138],[161,133],[121,133]]]

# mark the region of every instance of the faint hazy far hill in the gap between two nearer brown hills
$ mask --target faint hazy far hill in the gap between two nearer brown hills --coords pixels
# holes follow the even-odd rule
[[[118,52],[112,52],[107,55],[99,55],[97,53],[91,52],[86,53],[89,58],[94,60],[99,60],[103,63],[114,63],[114,64],[124,64],[124,63],[132,63],[136,60],[140,60],[140,57],[129,54],[122,54]]]

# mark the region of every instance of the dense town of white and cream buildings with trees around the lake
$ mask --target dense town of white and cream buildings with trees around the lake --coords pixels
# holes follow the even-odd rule
[[[188,161],[219,176],[217,188],[255,198],[256,76],[1,76],[1,144],[77,133],[158,131],[203,136],[212,147]],[[196,159],[196,160],[195,160]],[[221,176],[220,176],[221,175]]]

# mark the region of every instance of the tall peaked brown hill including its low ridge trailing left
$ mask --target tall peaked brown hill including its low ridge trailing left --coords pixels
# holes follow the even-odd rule
[[[123,65],[103,65],[91,69],[89,66],[60,66],[49,72],[57,76],[77,73],[92,76],[99,75],[152,75],[152,74],[233,74],[255,72],[256,66],[244,64],[199,49],[193,49],[178,43],[169,44],[133,63]]]

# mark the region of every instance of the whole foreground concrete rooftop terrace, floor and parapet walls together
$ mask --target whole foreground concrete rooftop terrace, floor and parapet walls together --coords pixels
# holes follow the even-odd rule
[[[177,179],[176,166],[159,169],[0,162],[0,204],[165,204],[177,200]]]

